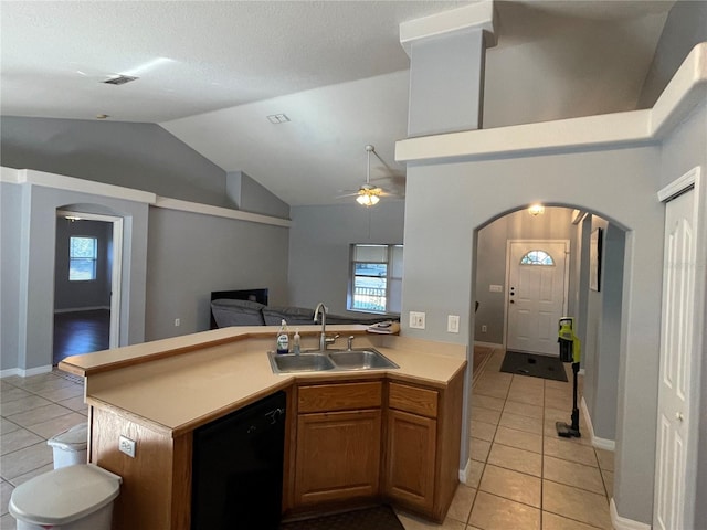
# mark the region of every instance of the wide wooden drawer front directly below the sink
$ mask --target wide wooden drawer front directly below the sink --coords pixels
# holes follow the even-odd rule
[[[299,386],[297,412],[335,412],[376,409],[381,405],[382,383],[316,384]]]

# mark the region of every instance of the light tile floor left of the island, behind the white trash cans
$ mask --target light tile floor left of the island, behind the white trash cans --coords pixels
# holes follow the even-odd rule
[[[61,371],[0,380],[0,529],[15,529],[12,490],[53,469],[46,441],[86,421],[83,395],[83,380]]]

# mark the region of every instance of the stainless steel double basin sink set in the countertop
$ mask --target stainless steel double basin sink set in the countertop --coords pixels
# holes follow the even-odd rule
[[[268,351],[273,373],[381,370],[400,368],[373,348],[360,350],[305,351],[277,354]]]

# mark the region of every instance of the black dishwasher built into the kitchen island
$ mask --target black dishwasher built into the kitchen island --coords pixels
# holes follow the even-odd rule
[[[192,530],[277,530],[285,406],[277,392],[194,431]]]

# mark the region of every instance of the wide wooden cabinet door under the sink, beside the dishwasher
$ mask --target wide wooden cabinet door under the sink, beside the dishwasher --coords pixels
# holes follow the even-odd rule
[[[380,433],[380,410],[300,414],[295,505],[376,496]]]

